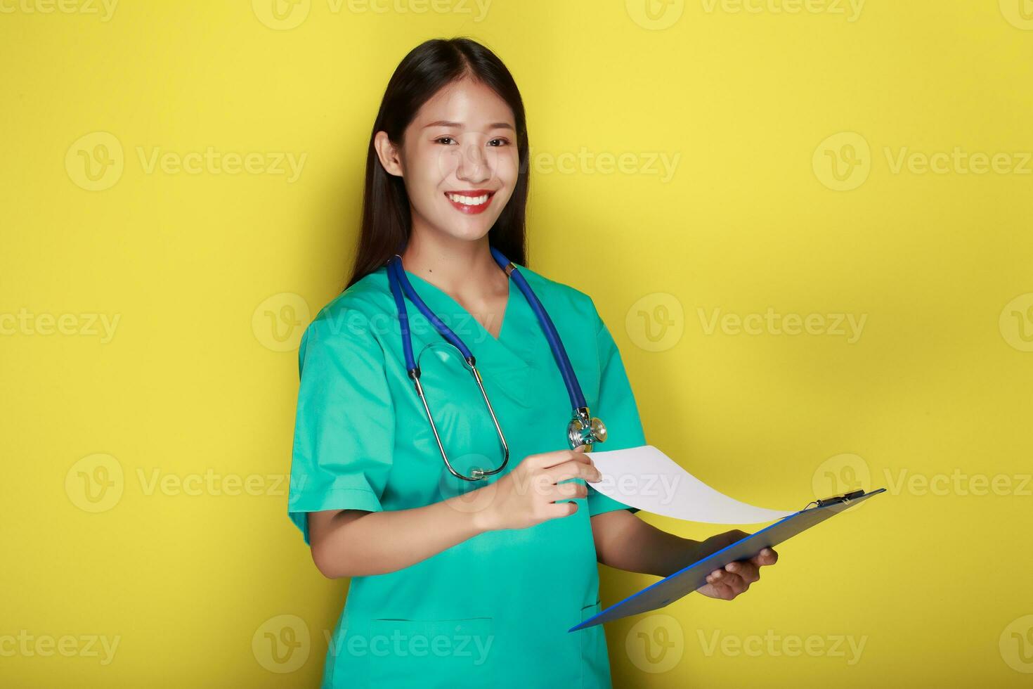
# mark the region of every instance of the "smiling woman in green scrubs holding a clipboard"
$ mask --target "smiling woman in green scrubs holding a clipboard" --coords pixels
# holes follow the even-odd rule
[[[596,563],[665,576],[745,535],[679,538],[588,490],[600,476],[585,445],[569,449],[571,400],[544,326],[493,250],[550,314],[605,422],[602,447],[646,439],[592,300],[527,268],[527,157],[521,96],[492,52],[430,40],[396,69],[351,280],[300,351],[289,514],[319,570],[351,577],[324,687],[608,687],[602,627],[567,632],[600,609]],[[404,282],[469,347],[483,394]],[[400,302],[437,434],[408,374]],[[699,591],[733,598],[776,557],[731,563]]]

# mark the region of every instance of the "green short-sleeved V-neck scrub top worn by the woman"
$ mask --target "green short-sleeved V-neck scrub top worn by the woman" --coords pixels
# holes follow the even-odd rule
[[[559,331],[592,414],[606,425],[595,448],[645,444],[620,352],[591,297],[518,268]],[[509,462],[476,483],[447,471],[405,370],[380,268],[331,301],[302,340],[288,512],[306,543],[306,512],[421,507],[494,482],[529,455],[569,448],[570,399],[513,281],[496,339],[445,291],[406,274],[476,357]],[[443,342],[408,299],[406,307],[414,356]],[[419,363],[420,380],[449,460],[470,475],[496,468],[502,449],[461,361],[449,345],[434,347]],[[611,687],[602,626],[567,630],[600,610],[590,516],[637,510],[591,488],[574,502],[572,515],[482,533],[404,569],[351,577],[322,686]]]

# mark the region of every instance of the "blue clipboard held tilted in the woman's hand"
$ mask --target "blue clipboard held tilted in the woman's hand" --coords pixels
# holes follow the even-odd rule
[[[824,522],[829,516],[839,514],[844,509],[852,507],[858,502],[871,498],[873,495],[883,493],[885,490],[884,488],[880,488],[870,493],[865,493],[863,490],[852,491],[843,495],[815,500],[813,502],[817,503],[816,507],[811,507],[810,509],[805,507],[799,512],[789,514],[756,533],[752,533],[730,545],[725,545],[720,551],[708,555],[702,560],[697,560],[670,576],[646,587],[638,593],[611,605],[598,615],[585,620],[567,631],[577,631],[578,629],[602,624],[603,622],[613,622],[614,620],[619,620],[630,615],[638,615],[639,613],[648,613],[663,607],[667,603],[678,600],[682,596],[688,595],[706,585],[707,575],[715,569],[720,569],[735,560],[748,560],[763,549],[778,545],[782,541],[807,531],[814,525]],[[808,503],[808,506],[810,504]]]

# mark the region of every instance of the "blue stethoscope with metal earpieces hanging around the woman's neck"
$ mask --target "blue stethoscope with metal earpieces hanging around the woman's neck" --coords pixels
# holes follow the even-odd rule
[[[574,375],[574,369],[570,366],[570,359],[567,357],[567,351],[563,348],[563,343],[560,341],[560,334],[556,332],[556,326],[553,324],[553,320],[549,317],[545,312],[541,302],[535,295],[534,291],[531,289],[531,285],[527,283],[524,276],[521,275],[516,267],[509,261],[508,258],[502,255],[502,252],[491,247],[492,256],[495,257],[495,262],[499,264],[506,275],[516,283],[520,290],[524,293],[525,299],[527,299],[528,304],[531,305],[531,309],[534,311],[535,315],[538,317],[538,322],[541,323],[541,328],[545,333],[545,339],[549,340],[549,346],[553,350],[553,357],[556,359],[556,364],[560,369],[560,373],[563,376],[563,382],[567,386],[567,395],[570,396],[570,404],[573,407],[573,413],[570,421],[567,424],[567,441],[570,443],[570,448],[573,449],[578,445],[585,445],[586,450],[591,450],[592,445],[596,442],[603,442],[606,439],[606,427],[601,420],[593,417],[589,413],[588,404],[585,402],[585,395],[582,393],[581,385],[577,383],[577,376]],[[408,277],[405,275],[405,270],[402,267],[402,256],[395,254],[387,260],[387,281],[390,284],[390,291],[395,295],[395,304],[398,306],[398,320],[399,326],[402,332],[402,349],[405,352],[405,368],[409,372],[409,378],[412,379],[413,384],[416,387],[416,395],[419,396],[419,400],[424,403],[424,410],[427,412],[427,420],[430,421],[431,430],[434,432],[434,439],[438,443],[438,449],[441,450],[441,459],[444,460],[445,466],[448,467],[448,471],[451,472],[457,478],[462,478],[463,480],[476,481],[480,480],[492,474],[497,474],[502,471],[509,461],[509,445],[506,443],[506,438],[502,434],[502,428],[499,426],[499,420],[495,416],[495,410],[492,408],[492,403],[488,399],[488,393],[484,392],[484,384],[480,378],[480,372],[477,371],[476,361],[473,357],[473,353],[470,349],[463,344],[463,341],[459,339],[452,331],[441,322],[441,319],[434,315],[434,312],[428,308],[424,300],[419,299],[419,294],[416,290],[412,288],[409,283]],[[401,284],[401,287],[399,286]],[[409,314],[405,307],[405,299],[402,296],[402,290],[405,290],[406,296],[416,305],[419,311],[430,320],[434,327],[437,328],[438,333],[441,334],[449,344],[460,350],[463,354],[463,361],[470,374],[473,376],[474,381],[477,383],[477,387],[480,389],[481,397],[484,398],[484,404],[488,406],[488,412],[492,415],[492,422],[495,425],[495,430],[499,435],[499,442],[502,444],[503,459],[502,464],[499,465],[497,469],[487,470],[487,469],[473,469],[473,476],[465,476],[460,472],[456,471],[451,463],[448,461],[448,455],[445,452],[444,445],[441,444],[441,436],[438,434],[438,428],[434,424],[434,416],[431,414],[431,408],[427,404],[427,394],[424,392],[424,386],[419,383],[419,366],[412,356],[412,337],[409,333]],[[420,351],[420,356],[431,345],[428,345]]]

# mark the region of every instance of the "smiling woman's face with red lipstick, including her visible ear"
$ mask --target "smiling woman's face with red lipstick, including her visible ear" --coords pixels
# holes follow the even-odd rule
[[[401,149],[390,146],[385,132],[377,132],[377,149],[384,168],[405,180],[413,226],[456,239],[487,234],[516,184],[512,111],[470,79],[444,87],[424,103]]]

